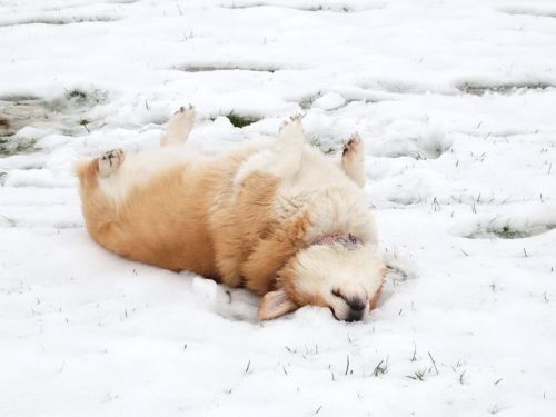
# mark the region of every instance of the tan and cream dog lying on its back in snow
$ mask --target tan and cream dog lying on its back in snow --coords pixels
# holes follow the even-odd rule
[[[260,319],[314,305],[361,320],[385,266],[361,191],[360,138],[337,163],[292,119],[278,139],[206,157],[186,146],[193,121],[193,108],[181,108],[160,149],[77,165],[91,237],[129,259],[246,287],[262,296]]]

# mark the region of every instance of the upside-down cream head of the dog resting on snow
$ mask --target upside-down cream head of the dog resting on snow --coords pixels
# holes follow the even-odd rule
[[[278,289],[259,306],[262,320],[306,305],[328,307],[338,320],[363,320],[375,307],[386,268],[375,247],[351,242],[312,245],[280,270]]]

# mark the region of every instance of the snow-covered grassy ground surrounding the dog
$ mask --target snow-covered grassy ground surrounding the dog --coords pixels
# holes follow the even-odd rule
[[[555,416],[555,86],[548,0],[0,1],[0,416]],[[88,237],[72,161],[189,102],[207,152],[363,136],[367,321]]]

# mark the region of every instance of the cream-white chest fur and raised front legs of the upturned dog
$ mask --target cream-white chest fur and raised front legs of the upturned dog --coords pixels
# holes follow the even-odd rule
[[[322,234],[337,231],[354,234],[366,244],[376,244],[374,217],[365,195],[357,187],[365,183],[359,178],[364,163],[361,151],[363,145],[350,152],[347,162],[350,170],[346,172],[332,159],[305,145],[301,122],[294,119],[282,127],[277,142],[260,148],[240,166],[234,183],[239,186],[256,171],[280,178],[277,215],[287,218],[299,214],[299,208],[306,208],[312,219],[318,219],[307,235],[308,242]],[[356,178],[348,177],[353,172]]]

